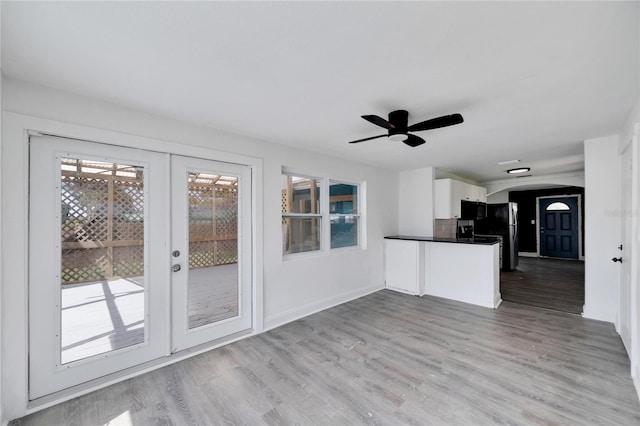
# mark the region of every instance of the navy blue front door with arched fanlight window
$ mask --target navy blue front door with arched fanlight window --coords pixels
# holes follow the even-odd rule
[[[540,256],[578,258],[578,198],[540,199]]]

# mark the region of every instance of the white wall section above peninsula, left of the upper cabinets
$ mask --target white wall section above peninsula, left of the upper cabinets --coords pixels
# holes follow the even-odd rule
[[[433,237],[433,167],[400,172],[399,229],[401,235]]]

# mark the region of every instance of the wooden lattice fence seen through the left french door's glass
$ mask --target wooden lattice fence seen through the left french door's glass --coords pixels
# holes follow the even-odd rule
[[[63,284],[144,273],[144,186],[137,175],[130,166],[63,160]]]

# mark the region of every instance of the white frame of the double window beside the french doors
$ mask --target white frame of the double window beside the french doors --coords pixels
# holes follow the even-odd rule
[[[284,238],[282,238],[281,252],[282,252],[283,259],[318,256],[318,255],[325,255],[332,252],[364,248],[365,239],[363,236],[363,231],[365,229],[365,212],[364,212],[365,197],[364,197],[363,191],[365,188],[365,182],[353,182],[347,179],[334,179],[334,178],[328,178],[328,177],[320,177],[317,174],[301,173],[299,171],[285,168],[285,167],[282,168],[281,176],[295,176],[300,178],[314,179],[317,182],[319,182],[319,191],[320,191],[319,192],[320,208],[318,213],[281,213],[282,219],[311,218],[311,217],[320,218],[319,249],[303,251],[298,253],[285,253],[285,241],[284,241]],[[329,188],[331,184],[353,185],[358,188],[357,189],[357,206],[358,206],[357,214],[337,214],[337,213],[332,214],[330,212]],[[356,216],[358,218],[358,225],[357,225],[358,241],[355,245],[331,248],[331,217],[332,216]]]

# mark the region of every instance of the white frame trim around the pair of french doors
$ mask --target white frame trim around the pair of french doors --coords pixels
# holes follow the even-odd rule
[[[229,343],[212,342],[211,345],[194,348],[185,353],[172,354],[154,363],[147,363],[121,374],[105,376],[82,387],[76,387],[39,400],[28,399],[28,142],[30,133],[50,134],[91,142],[110,143],[117,146],[146,149],[157,152],[245,164],[252,169],[252,236],[253,258],[253,330],[259,333],[264,329],[263,311],[263,161],[249,155],[234,154],[226,151],[205,148],[204,141],[194,140],[194,144],[166,141],[153,137],[136,136],[111,130],[98,129],[62,121],[50,120],[10,111],[3,113],[2,128],[2,203],[15,206],[3,209],[2,214],[2,253],[5,265],[2,269],[2,315],[11,321],[2,322],[2,340],[10,342],[3,348],[2,384],[9,386],[11,392],[4,392],[4,418],[17,418],[60,403],[62,401],[109,386],[126,378],[172,364],[181,359],[208,351],[214,347]],[[221,136],[224,137],[224,136]],[[189,141],[187,141],[188,143]],[[233,141],[229,141],[233,143]],[[7,301],[10,301],[8,303]],[[237,340],[234,338],[233,340]],[[9,367],[10,366],[10,367]]]

